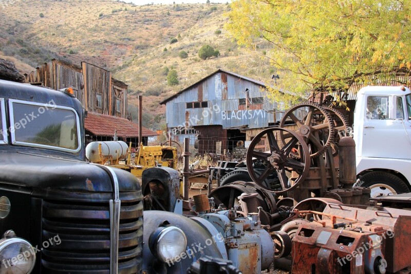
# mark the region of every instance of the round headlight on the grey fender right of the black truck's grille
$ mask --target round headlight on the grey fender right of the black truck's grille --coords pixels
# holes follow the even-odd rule
[[[159,227],[150,235],[148,246],[160,261],[174,262],[185,251],[187,238],[178,227]]]

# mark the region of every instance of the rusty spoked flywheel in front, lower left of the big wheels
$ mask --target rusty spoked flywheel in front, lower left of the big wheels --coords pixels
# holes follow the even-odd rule
[[[287,135],[287,141],[284,141],[283,143],[278,142],[275,138],[276,134]],[[268,140],[270,147],[269,152],[254,150],[255,146],[263,138]],[[296,153],[300,157],[293,157],[293,154]],[[253,169],[253,162],[255,159],[262,161],[266,167],[260,174],[256,173]],[[250,177],[256,184],[265,190],[276,194],[282,194],[298,187],[298,185],[300,185],[307,177],[310,166],[310,154],[308,146],[301,136],[291,130],[274,127],[272,129],[261,131],[253,138],[247,150],[246,162]],[[292,171],[294,171],[296,176],[291,176]],[[281,184],[279,190],[266,187],[263,184],[265,179],[273,172],[276,172],[278,175]]]

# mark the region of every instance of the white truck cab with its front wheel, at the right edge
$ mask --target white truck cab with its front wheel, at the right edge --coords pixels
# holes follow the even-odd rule
[[[353,138],[359,186],[371,197],[410,191],[411,90],[367,86],[357,94]]]

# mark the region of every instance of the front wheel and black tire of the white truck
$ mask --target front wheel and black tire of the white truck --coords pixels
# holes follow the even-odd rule
[[[381,196],[381,194],[387,196],[390,193],[400,194],[409,192],[409,188],[402,179],[384,171],[371,171],[361,176],[358,186],[370,188],[371,198]]]

